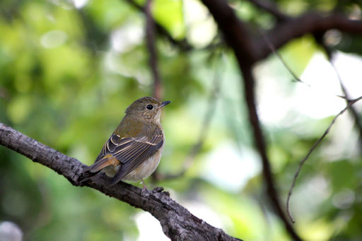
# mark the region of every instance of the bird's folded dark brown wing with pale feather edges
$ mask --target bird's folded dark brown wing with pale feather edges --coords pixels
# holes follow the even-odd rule
[[[95,162],[109,154],[119,160],[121,166],[113,177],[112,184],[122,180],[163,146],[163,133],[160,128],[157,127],[151,136],[151,138],[147,136],[120,138],[117,134],[110,136]]]

